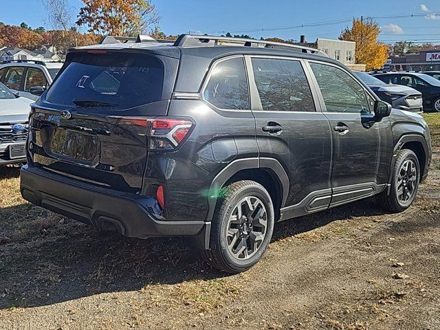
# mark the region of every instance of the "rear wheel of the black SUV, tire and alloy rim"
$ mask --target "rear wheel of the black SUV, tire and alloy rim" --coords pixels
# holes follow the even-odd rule
[[[261,184],[236,181],[221,190],[212,217],[206,260],[223,272],[249,270],[263,256],[274,231],[274,206]]]

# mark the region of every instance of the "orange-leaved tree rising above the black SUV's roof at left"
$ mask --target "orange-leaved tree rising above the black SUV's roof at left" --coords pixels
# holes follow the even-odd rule
[[[150,0],[83,0],[78,21],[94,34],[134,36],[159,22]]]

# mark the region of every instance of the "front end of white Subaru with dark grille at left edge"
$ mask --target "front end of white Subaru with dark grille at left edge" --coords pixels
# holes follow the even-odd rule
[[[25,143],[32,102],[0,83],[0,166],[26,161]]]

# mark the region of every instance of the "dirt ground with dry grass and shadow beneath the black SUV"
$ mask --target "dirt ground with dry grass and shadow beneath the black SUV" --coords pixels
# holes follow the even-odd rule
[[[0,170],[0,329],[440,329],[440,114],[415,204],[366,199],[276,225],[226,276],[183,239],[124,239],[34,207]]]

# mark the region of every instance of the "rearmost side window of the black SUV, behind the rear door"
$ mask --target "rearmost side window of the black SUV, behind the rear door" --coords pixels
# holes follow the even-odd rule
[[[203,98],[219,109],[250,109],[243,58],[230,58],[217,63],[203,91]]]

